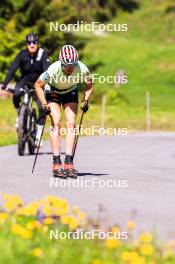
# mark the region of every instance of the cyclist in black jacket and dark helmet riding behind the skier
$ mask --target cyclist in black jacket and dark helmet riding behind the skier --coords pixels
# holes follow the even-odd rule
[[[11,64],[10,70],[1,86],[2,90],[5,90],[8,83],[12,79],[14,73],[17,69],[21,70],[21,77],[16,83],[14,93],[13,93],[13,104],[19,113],[20,101],[23,92],[20,91],[21,88],[34,87],[34,83],[40,76],[40,74],[47,70],[49,67],[49,58],[44,49],[38,46],[38,35],[35,33],[29,33],[26,35],[26,49],[20,51],[13,63]],[[36,134],[36,145],[39,141],[42,126],[44,121],[42,105],[38,97],[35,95],[34,99],[38,106],[38,120],[37,120],[37,134]],[[16,120],[16,127],[18,127],[18,117]]]

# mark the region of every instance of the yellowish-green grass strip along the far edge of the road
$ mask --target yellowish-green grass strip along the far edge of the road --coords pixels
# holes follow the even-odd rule
[[[12,102],[0,100],[0,108],[8,109],[0,112],[0,146],[16,144],[17,134],[15,128],[16,111]],[[77,124],[80,120],[80,111],[77,117]],[[101,127],[102,107],[100,104],[91,104],[90,109],[84,116],[83,127]],[[63,118],[64,119],[64,118]],[[63,120],[62,126],[65,127]],[[48,120],[44,133],[44,140],[49,139],[50,121]],[[146,108],[143,106],[129,107],[127,105],[107,105],[105,114],[105,128],[127,128],[128,132],[146,130]],[[151,129],[152,130],[169,130],[175,129],[175,110],[161,107],[151,108]],[[98,133],[95,133],[98,134]]]

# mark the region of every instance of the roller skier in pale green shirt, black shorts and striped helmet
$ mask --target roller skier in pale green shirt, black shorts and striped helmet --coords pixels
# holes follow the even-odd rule
[[[77,78],[78,77],[78,78]],[[72,45],[65,45],[59,53],[59,60],[52,63],[47,71],[41,74],[35,83],[36,93],[46,114],[50,114],[53,131],[50,133],[53,152],[53,176],[77,178],[73,164],[74,127],[78,111],[77,84],[85,84],[84,99],[81,103],[83,112],[88,110],[88,100],[92,93],[92,80],[88,68],[78,60],[77,50]],[[44,87],[48,90],[44,95]],[[64,169],[60,159],[61,144],[61,105],[66,119],[66,156]]]

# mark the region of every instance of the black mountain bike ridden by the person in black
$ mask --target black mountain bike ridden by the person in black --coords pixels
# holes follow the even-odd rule
[[[14,89],[11,88],[7,91],[14,93]],[[29,155],[33,155],[35,154],[37,120],[36,109],[33,107],[35,90],[25,86],[20,91],[24,94],[18,113],[18,155],[24,156],[26,143],[28,143]]]

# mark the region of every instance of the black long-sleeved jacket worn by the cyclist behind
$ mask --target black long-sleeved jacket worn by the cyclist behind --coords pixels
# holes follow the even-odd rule
[[[17,69],[21,70],[20,79],[35,83],[48,67],[49,58],[44,49],[38,48],[34,55],[31,55],[27,49],[22,50],[13,61],[3,85],[7,86]]]

